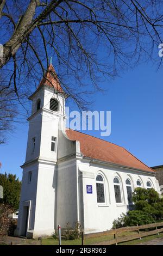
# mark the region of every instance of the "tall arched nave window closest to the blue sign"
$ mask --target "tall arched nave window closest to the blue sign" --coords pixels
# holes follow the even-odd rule
[[[97,203],[105,203],[104,179],[102,175],[96,177]]]

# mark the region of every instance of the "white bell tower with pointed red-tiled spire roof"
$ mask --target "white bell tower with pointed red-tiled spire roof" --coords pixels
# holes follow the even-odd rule
[[[32,114],[16,235],[51,235],[55,226],[58,131],[65,127],[65,99],[59,79],[49,64],[39,87],[29,97]]]

